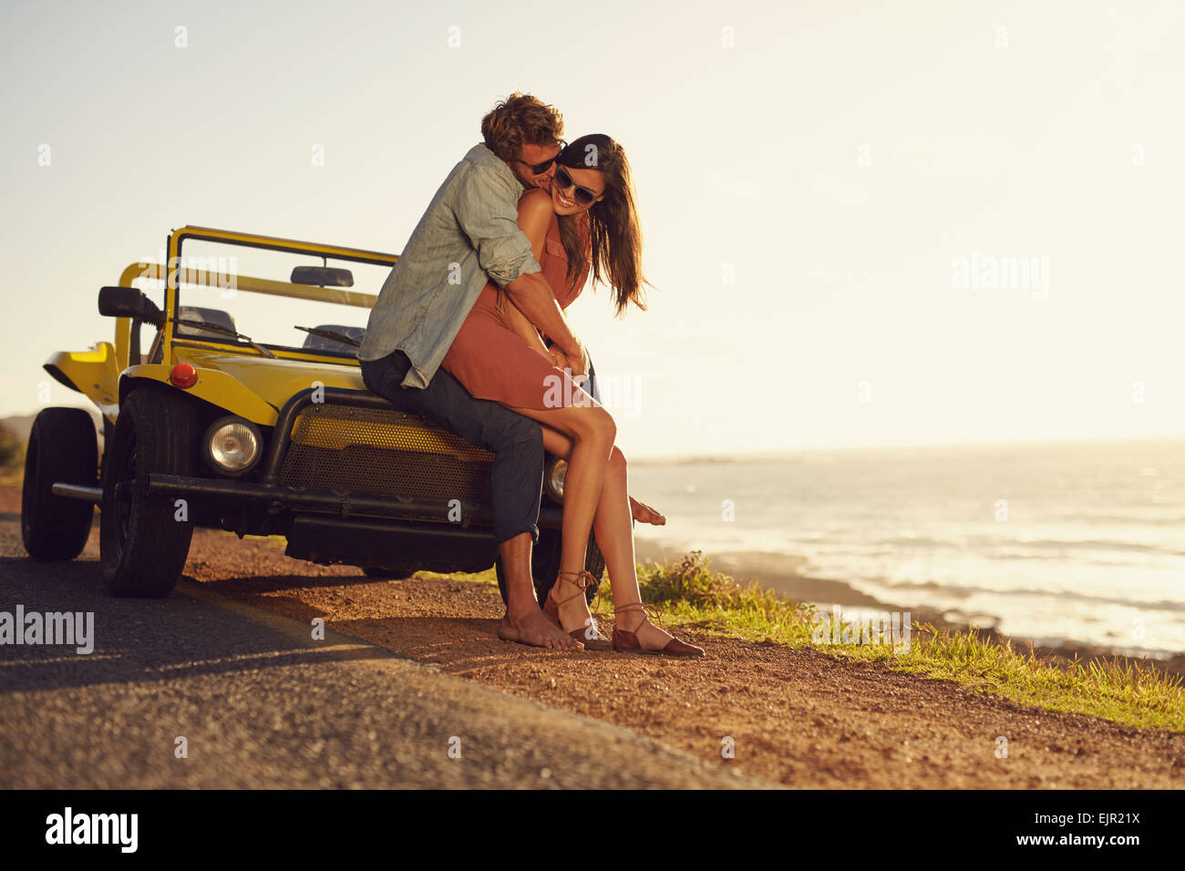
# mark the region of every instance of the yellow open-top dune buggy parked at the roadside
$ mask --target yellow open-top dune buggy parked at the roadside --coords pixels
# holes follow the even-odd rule
[[[196,526],[282,536],[288,556],[371,577],[495,564],[492,455],[361,380],[357,348],[396,255],[199,226],[165,251],[100,290],[114,344],[45,363],[98,406],[103,450],[84,409],[37,416],[21,499],[32,557],[77,557],[98,505],[117,596],[167,596]],[[563,480],[546,457],[540,601],[559,568]],[[604,570],[595,542],[587,568]]]

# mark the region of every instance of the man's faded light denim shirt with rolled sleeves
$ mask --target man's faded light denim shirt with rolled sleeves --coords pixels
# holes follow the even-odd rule
[[[405,388],[427,388],[487,281],[540,271],[518,226],[523,185],[485,145],[453,167],[370,313],[359,360],[403,351]]]

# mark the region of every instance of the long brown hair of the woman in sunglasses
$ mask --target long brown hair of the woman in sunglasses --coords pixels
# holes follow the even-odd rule
[[[624,149],[603,133],[592,133],[571,142],[556,162],[575,169],[600,169],[604,174],[604,196],[600,201],[585,212],[559,216],[569,280],[583,274],[591,261],[592,284],[601,282],[613,288],[619,315],[630,302],[646,310],[642,284],[649,282],[642,277],[642,231]]]

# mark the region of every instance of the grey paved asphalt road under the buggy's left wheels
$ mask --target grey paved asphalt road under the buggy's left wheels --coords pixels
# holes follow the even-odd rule
[[[97,524],[45,564],[18,523],[0,513],[0,611],[92,611],[95,649],[0,646],[2,788],[771,786],[191,582],[109,598]]]

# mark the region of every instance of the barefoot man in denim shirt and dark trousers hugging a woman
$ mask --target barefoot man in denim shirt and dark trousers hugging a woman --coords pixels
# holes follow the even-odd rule
[[[508,600],[498,634],[570,649],[583,645],[543,614],[531,578],[543,486],[539,424],[475,399],[440,369],[481,289],[494,281],[551,338],[562,366],[588,371],[584,348],[518,228],[519,197],[550,187],[563,133],[563,116],[529,94],[511,95],[482,119],[483,143],[453,167],[416,225],[371,309],[358,359],[370,390],[494,454],[494,536]]]

